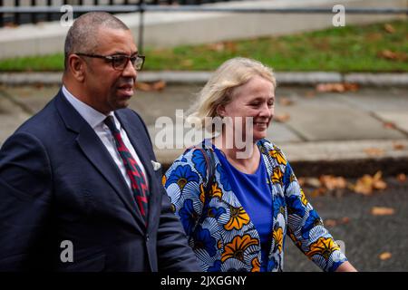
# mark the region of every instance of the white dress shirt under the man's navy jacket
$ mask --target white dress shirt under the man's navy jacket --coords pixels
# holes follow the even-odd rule
[[[102,112],[100,111],[96,111],[86,103],[78,100],[76,97],[73,96],[71,92],[68,92],[65,86],[63,86],[63,95],[68,100],[68,102],[70,102],[73,105],[73,108],[75,108],[75,110],[79,112],[83,119],[88,122],[88,124],[92,127],[93,131],[95,131],[98,137],[102,140],[103,145],[109,151],[109,153],[112,156],[112,159],[115,161],[116,165],[121,170],[121,175],[126,180],[129,189],[131,189],[131,179],[129,179],[123,161],[121,160],[121,155],[119,151],[116,149],[116,144],[112,132],[108,128],[108,126],[106,126],[106,124],[103,122],[107,116],[102,114]],[[131,156],[133,157],[134,160],[136,160],[139,167],[143,171],[144,177],[146,179],[146,184],[149,184],[143,164],[141,164],[141,160],[139,159],[138,154],[131,145],[131,141],[129,140],[128,135],[126,134],[126,131],[124,131],[123,128],[121,127],[121,122],[116,118],[113,111],[111,111],[109,115],[113,117],[116,128],[118,128],[118,130],[121,131],[121,139],[123,140],[128,150],[131,152]]]

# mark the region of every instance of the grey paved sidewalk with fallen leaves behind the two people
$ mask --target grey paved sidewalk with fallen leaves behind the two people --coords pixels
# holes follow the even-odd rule
[[[164,131],[155,126],[158,118],[167,116],[180,128],[175,112],[185,114],[199,88],[199,84],[169,85],[162,92],[136,92],[130,107],[141,113],[154,144],[164,140]],[[0,86],[0,144],[57,91],[57,85]],[[276,116],[286,116],[287,121],[273,121],[268,139],[286,152],[299,176],[358,177],[378,169],[385,175],[408,173],[407,87],[343,93],[278,87]],[[155,149],[165,168],[193,141],[173,132],[167,137],[173,138],[178,149]]]

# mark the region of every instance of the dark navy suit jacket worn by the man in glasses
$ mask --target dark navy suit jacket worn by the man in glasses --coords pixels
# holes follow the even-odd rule
[[[129,109],[115,114],[148,175],[148,227],[108,150],[60,91],[0,150],[0,270],[199,271],[143,121]],[[61,258],[65,240],[73,262]]]

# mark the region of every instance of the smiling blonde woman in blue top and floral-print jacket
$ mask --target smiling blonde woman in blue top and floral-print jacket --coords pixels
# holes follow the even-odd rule
[[[212,75],[189,120],[211,131],[206,118],[218,117],[222,126],[205,150],[186,150],[163,177],[175,214],[202,271],[282,271],[286,236],[324,271],[355,271],[283,152],[265,140],[276,85],[270,68],[246,58]]]

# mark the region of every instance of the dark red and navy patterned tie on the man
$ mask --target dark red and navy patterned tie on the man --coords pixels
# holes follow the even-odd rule
[[[141,171],[141,168],[136,163],[136,160],[134,160],[131,156],[131,152],[123,143],[123,140],[121,139],[121,132],[116,128],[112,116],[108,116],[104,123],[112,131],[116,148],[121,155],[121,160],[125,166],[126,173],[128,174],[129,179],[131,179],[131,191],[133,192],[134,198],[136,198],[136,202],[141,210],[141,216],[143,216],[147,226],[149,188],[146,184],[143,171]]]

